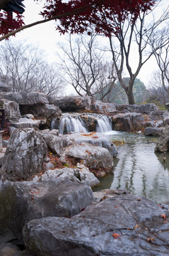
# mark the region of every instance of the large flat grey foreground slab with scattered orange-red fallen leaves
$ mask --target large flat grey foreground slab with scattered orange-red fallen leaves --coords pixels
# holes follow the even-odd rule
[[[88,206],[69,218],[31,220],[25,246],[38,256],[168,255],[168,208],[132,194]]]

